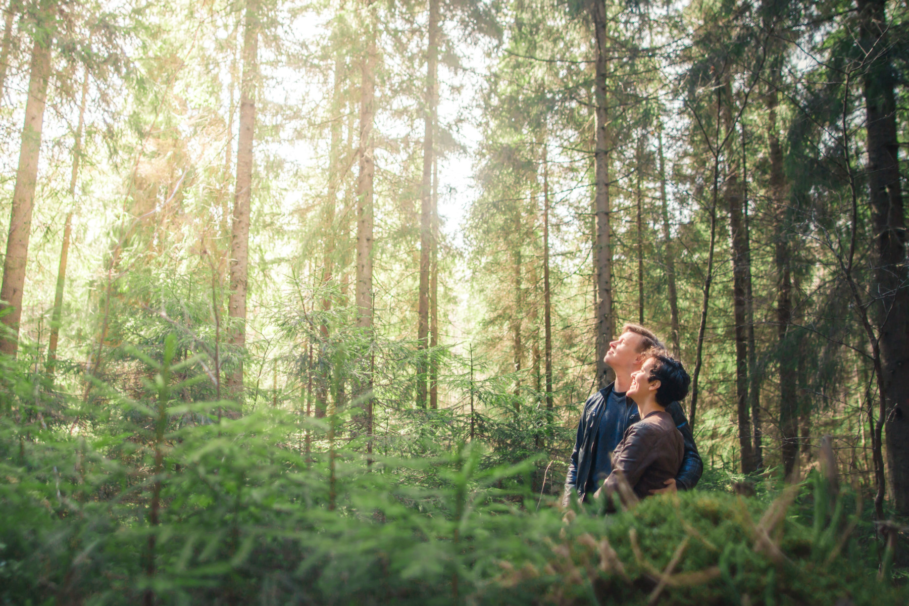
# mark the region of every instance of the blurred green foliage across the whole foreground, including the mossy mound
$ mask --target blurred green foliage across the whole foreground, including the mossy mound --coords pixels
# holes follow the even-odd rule
[[[909,598],[861,498],[816,471],[795,486],[766,481],[753,497],[716,484],[607,517],[576,503],[565,514],[535,486],[534,458],[428,438],[425,456],[365,454],[335,432],[359,409],[315,419],[186,402],[179,394],[206,373],[178,359],[175,338],[158,353],[129,351],[142,386],[94,380],[91,404],[66,403],[76,419],[55,412],[64,396],[44,375],[5,367],[0,603]]]

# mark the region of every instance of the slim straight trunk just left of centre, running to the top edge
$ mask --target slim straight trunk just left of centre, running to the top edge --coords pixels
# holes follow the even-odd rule
[[[439,2],[429,0],[429,40],[426,48],[426,93],[423,110],[423,182],[420,191],[420,293],[417,301],[416,339],[423,350],[418,358],[416,405],[426,407],[426,372],[429,360],[425,349],[429,335],[429,279],[432,264],[433,220],[433,128],[435,126],[436,71],[438,69]]]

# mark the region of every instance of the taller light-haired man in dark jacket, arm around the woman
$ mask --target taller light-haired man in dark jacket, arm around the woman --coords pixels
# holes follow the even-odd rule
[[[610,454],[622,441],[628,426],[641,420],[637,405],[625,398],[625,392],[631,386],[631,374],[641,369],[644,352],[660,346],[654,333],[637,324],[625,324],[619,337],[609,343],[604,362],[613,369],[615,381],[591,395],[584,403],[565,477],[563,506],[570,502],[572,489],[577,491],[578,500],[584,501],[584,496],[593,495],[613,471]],[[704,464],[694,446],[694,435],[682,407],[678,402],[672,402],[666,406],[666,412],[682,433],[682,467],[674,480],[665,482],[664,489],[651,493],[690,490],[704,472]]]

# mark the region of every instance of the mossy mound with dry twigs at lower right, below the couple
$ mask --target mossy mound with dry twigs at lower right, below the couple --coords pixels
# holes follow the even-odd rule
[[[481,601],[536,596],[554,604],[880,606],[909,592],[878,581],[855,536],[860,512],[816,481],[815,512],[798,514],[799,487],[772,502],[723,492],[644,500],[600,518],[580,512],[545,562],[508,562]],[[817,503],[823,506],[818,507]],[[807,523],[806,523],[807,522]]]

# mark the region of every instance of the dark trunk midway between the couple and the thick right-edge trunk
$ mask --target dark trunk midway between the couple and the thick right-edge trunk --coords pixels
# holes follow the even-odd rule
[[[776,132],[777,93],[767,94],[767,146],[770,152],[770,193],[774,204],[774,263],[776,265],[776,337],[780,376],[780,437],[783,468],[788,478],[798,456],[798,401],[792,338],[792,253],[787,234],[789,192],[783,169],[783,148]]]

